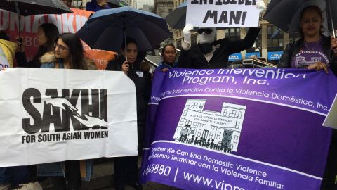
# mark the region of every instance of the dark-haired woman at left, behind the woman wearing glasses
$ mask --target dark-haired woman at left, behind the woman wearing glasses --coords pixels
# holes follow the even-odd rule
[[[54,50],[54,41],[58,37],[58,27],[51,23],[44,23],[37,29],[37,44],[39,51],[34,56],[32,61],[27,61],[25,56],[25,43],[21,37],[17,38],[18,53],[15,53],[15,58],[20,68],[39,68],[41,63],[39,59],[44,53]]]

